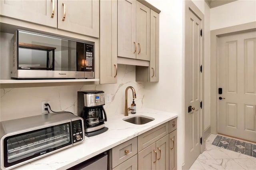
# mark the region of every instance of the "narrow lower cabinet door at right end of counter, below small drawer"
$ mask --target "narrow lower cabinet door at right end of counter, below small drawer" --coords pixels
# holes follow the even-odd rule
[[[177,170],[177,130],[169,134],[170,170]]]

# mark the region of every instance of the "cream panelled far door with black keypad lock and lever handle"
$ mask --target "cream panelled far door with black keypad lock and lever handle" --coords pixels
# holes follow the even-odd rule
[[[256,142],[256,31],[218,38],[218,133]]]

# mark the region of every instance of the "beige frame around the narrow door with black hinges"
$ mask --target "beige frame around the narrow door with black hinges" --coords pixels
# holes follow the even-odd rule
[[[201,123],[201,129],[200,129],[200,134],[202,136],[202,144],[200,146],[200,152],[202,153],[205,149],[205,137],[204,136],[204,14],[199,10],[199,8],[192,2],[192,0],[186,0],[185,1],[185,10],[184,10],[184,35],[186,35],[186,16],[188,16],[189,11],[192,11],[198,18],[201,20],[201,28],[202,28],[202,39],[201,39],[201,64],[202,64],[202,75],[200,79],[201,83],[201,100],[202,100],[202,109],[201,109],[201,117],[200,117],[200,123]],[[185,42],[186,42],[186,36],[184,36],[184,59],[183,59],[183,92],[185,91]],[[182,112],[183,112],[183,139],[186,139],[185,137],[185,114],[188,114],[188,108],[186,107],[185,103],[185,94],[183,93],[183,105],[182,105]],[[183,143],[183,160],[182,160],[182,169],[188,169],[188,165],[186,165],[186,160],[185,160],[185,142]]]

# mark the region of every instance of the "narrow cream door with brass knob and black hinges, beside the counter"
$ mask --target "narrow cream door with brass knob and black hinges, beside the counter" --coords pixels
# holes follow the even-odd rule
[[[200,154],[202,136],[202,57],[201,20],[189,8],[186,12],[185,38],[185,166],[188,169]],[[190,107],[190,111],[188,110]]]

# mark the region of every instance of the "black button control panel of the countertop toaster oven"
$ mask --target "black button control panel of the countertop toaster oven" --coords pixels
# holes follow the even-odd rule
[[[82,141],[84,138],[84,128],[82,120],[78,119],[71,122],[71,131],[72,131],[72,142],[73,144]]]

